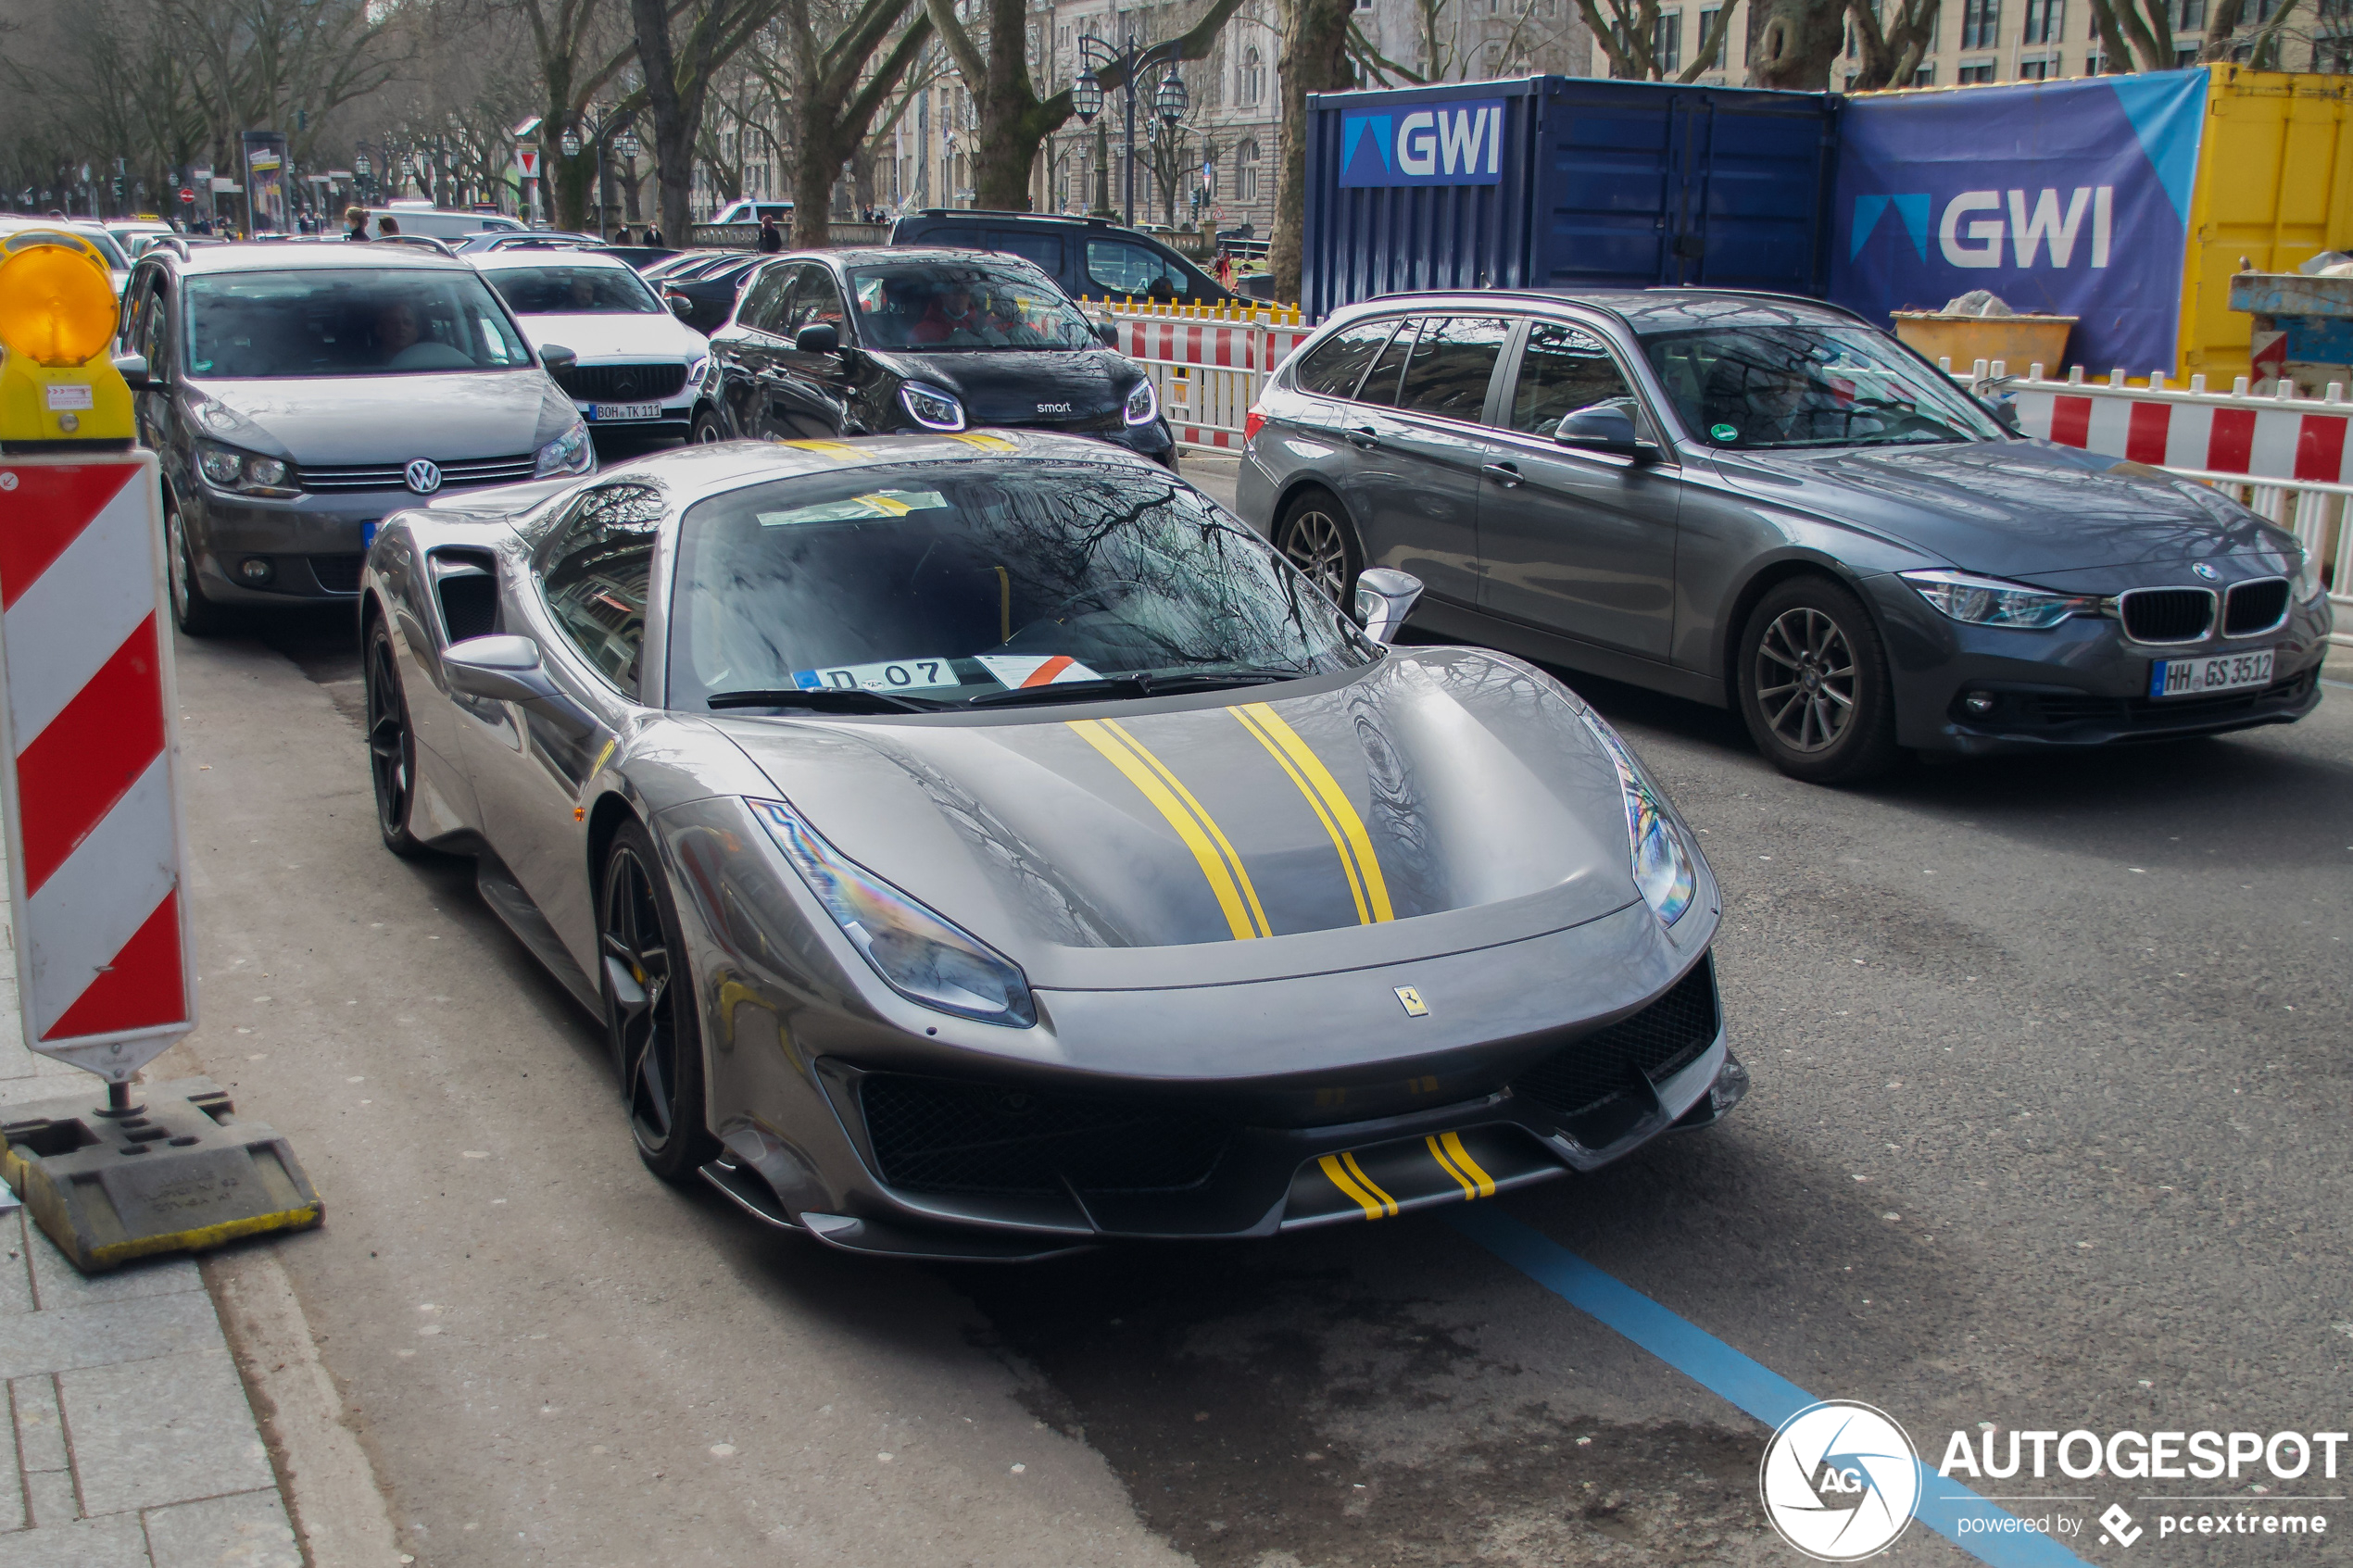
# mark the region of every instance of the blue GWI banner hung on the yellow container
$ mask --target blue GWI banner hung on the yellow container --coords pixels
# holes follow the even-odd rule
[[[1885,324],[1991,289],[2080,317],[2068,364],[2169,374],[2205,96],[2162,71],[1849,99],[1831,299]]]

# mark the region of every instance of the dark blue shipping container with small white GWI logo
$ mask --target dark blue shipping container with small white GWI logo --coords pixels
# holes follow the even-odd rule
[[[1308,96],[1301,306],[1400,289],[1821,296],[1838,94],[1537,75]]]

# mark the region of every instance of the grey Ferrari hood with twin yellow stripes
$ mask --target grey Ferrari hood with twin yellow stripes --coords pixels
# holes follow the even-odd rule
[[[1144,983],[1118,961],[1139,950],[1346,969],[1638,898],[1607,752],[1548,677],[1475,649],[1264,698],[713,722],[835,849],[1042,985]]]

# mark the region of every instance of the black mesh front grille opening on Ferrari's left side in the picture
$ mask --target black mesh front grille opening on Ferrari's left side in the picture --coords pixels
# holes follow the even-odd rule
[[[882,1072],[859,1084],[880,1175],[906,1192],[1181,1192],[1226,1152],[1214,1117]]]

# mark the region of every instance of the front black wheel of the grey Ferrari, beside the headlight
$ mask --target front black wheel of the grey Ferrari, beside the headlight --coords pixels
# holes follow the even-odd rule
[[[605,1030],[621,1067],[638,1159],[671,1182],[692,1180],[718,1154],[704,1131],[704,1044],[678,912],[654,842],[624,825],[605,853],[598,900]]]

